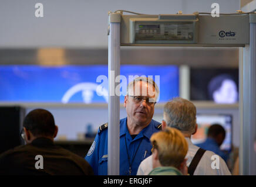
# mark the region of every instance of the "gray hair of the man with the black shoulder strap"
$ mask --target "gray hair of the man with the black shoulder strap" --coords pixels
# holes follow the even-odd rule
[[[183,133],[194,133],[196,113],[196,106],[187,99],[174,98],[164,105],[164,120],[167,126],[174,127]]]

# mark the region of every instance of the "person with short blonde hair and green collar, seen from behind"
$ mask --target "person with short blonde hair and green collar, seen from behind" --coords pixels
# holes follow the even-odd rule
[[[187,174],[186,154],[188,144],[183,134],[174,128],[154,133],[150,138],[153,145],[153,170],[149,175]]]

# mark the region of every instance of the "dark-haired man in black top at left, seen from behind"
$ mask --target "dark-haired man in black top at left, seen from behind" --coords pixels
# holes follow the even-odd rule
[[[48,110],[35,109],[23,120],[26,145],[0,155],[1,175],[93,175],[82,157],[55,146],[58,126]]]

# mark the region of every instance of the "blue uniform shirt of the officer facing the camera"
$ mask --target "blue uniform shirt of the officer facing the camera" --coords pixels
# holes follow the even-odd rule
[[[120,175],[129,175],[127,151],[130,157],[131,175],[137,174],[140,162],[151,155],[150,137],[160,130],[160,124],[152,119],[150,124],[132,139],[127,129],[127,117],[120,120]],[[107,175],[107,128],[98,130],[85,160],[89,162],[95,175]]]

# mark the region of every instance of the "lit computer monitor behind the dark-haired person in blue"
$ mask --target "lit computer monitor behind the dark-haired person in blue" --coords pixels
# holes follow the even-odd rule
[[[221,144],[221,150],[230,151],[232,147],[232,115],[220,114],[198,114],[197,115],[197,133],[191,137],[193,144],[203,143],[207,138],[208,128],[214,124],[218,123],[225,129],[225,140]]]

